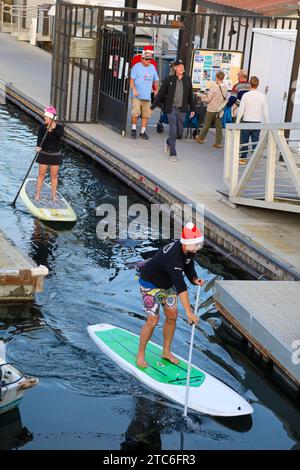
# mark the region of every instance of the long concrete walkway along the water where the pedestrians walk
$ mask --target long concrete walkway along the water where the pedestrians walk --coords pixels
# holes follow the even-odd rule
[[[0,33],[0,79],[7,97],[35,117],[50,101],[51,55]],[[150,141],[122,138],[100,124],[67,124],[67,143],[90,155],[149,200],[205,206],[208,243],[257,278],[300,280],[300,215],[251,207],[233,209],[220,201],[223,150],[213,149],[213,132],[200,146],[178,142],[179,160],[163,151],[165,134],[149,129]]]

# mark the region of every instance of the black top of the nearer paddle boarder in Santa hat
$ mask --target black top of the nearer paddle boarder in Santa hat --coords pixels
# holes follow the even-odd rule
[[[161,248],[141,269],[141,280],[162,289],[174,286],[180,294],[187,290],[184,274],[193,283],[198,278],[193,253],[185,254],[180,241]]]

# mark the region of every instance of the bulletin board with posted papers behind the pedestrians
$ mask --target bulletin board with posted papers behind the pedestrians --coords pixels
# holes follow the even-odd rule
[[[225,73],[224,82],[230,91],[238,81],[242,59],[243,53],[240,51],[195,49],[192,61],[194,90],[209,90],[216,81],[216,74],[222,70]]]

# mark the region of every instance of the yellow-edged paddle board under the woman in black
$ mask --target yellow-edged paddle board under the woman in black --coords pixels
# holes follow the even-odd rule
[[[23,184],[20,197],[27,209],[41,220],[51,222],[75,222],[76,214],[65,198],[57,193],[58,201],[51,200],[51,186],[44,183],[41,192],[41,199],[35,201],[36,180],[27,179]]]

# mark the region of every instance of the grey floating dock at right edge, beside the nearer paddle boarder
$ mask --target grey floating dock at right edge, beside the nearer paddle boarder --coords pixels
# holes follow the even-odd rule
[[[218,281],[221,314],[300,390],[300,283]]]

